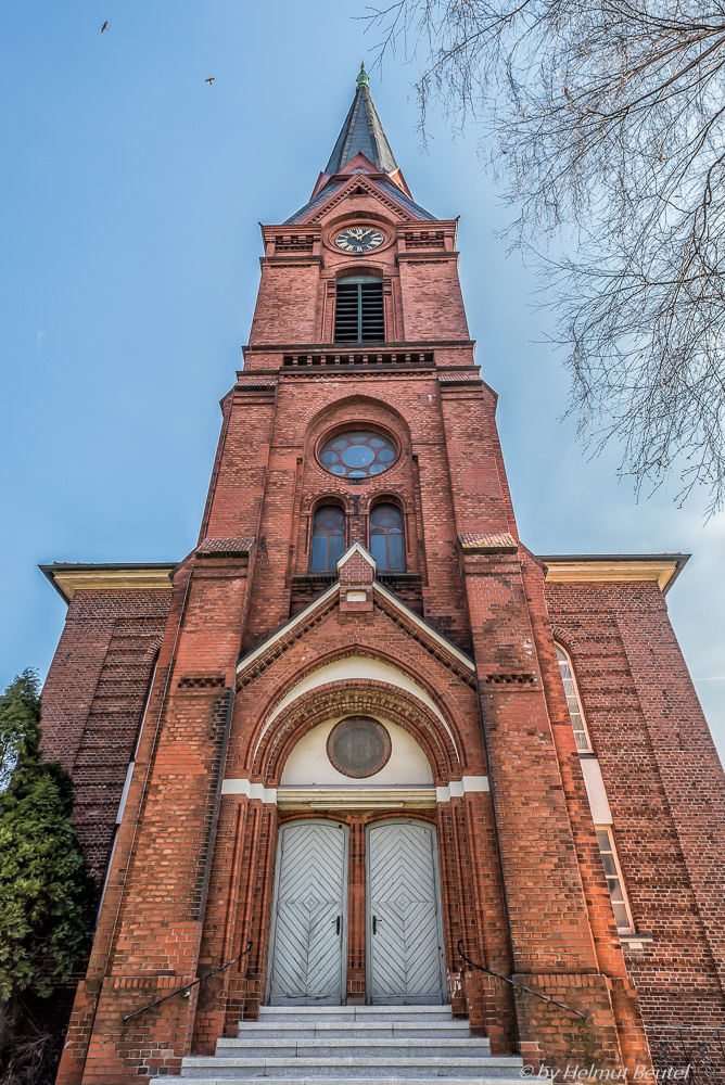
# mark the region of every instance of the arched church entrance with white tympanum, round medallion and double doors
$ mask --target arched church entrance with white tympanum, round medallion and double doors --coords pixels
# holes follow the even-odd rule
[[[329,680],[320,682],[320,669]],[[309,690],[290,691],[290,710],[283,700],[270,716],[256,754],[274,788],[279,832],[264,1000],[447,1003],[458,991],[449,990],[446,970],[458,912],[450,893],[443,893],[437,826],[443,817],[441,863],[449,885],[450,796],[441,779],[458,770],[450,724],[418,681],[390,664],[353,655],[320,669],[306,679]],[[393,680],[409,689],[393,691]],[[325,831],[339,841],[339,826],[347,829],[346,855],[336,848],[322,854]],[[304,854],[291,847],[297,832],[307,837]],[[328,864],[336,864],[336,872]],[[326,897],[329,916],[311,892],[318,867],[334,885]],[[341,904],[335,894],[343,880],[347,898]],[[313,929],[314,916],[306,914],[316,909],[320,924]],[[281,926],[288,923],[296,944]],[[308,946],[334,961],[339,983],[309,982]]]

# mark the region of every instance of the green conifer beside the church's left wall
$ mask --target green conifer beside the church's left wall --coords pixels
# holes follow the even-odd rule
[[[0,1085],[53,1080],[53,996],[88,950],[96,899],[71,778],[39,745],[39,681],[24,671],[0,697]]]

